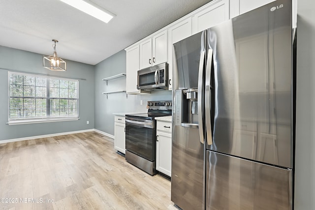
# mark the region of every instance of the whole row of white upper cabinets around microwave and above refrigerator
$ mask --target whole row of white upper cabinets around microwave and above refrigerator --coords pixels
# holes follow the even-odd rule
[[[136,88],[137,71],[162,62],[169,64],[168,83],[169,90],[172,90],[174,43],[272,1],[274,0],[213,0],[126,48],[127,93],[142,93]]]

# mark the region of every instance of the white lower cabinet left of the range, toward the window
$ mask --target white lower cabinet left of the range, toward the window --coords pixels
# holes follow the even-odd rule
[[[115,116],[115,127],[114,127],[114,148],[117,151],[126,153],[126,135],[125,135],[125,117]]]

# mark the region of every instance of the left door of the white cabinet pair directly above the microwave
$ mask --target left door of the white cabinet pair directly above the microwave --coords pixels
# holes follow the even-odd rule
[[[140,42],[140,69],[152,66],[152,39]]]

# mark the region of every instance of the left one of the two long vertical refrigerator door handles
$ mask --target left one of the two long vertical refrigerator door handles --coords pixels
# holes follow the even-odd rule
[[[205,60],[205,51],[202,51],[200,54],[199,60],[199,73],[198,73],[198,127],[199,127],[199,140],[204,144],[204,130],[203,130],[203,104],[202,104],[202,95],[203,95],[203,71],[204,71],[204,60]]]

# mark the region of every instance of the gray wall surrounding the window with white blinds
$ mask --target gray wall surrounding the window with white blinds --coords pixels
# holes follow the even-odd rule
[[[0,140],[32,137],[94,128],[94,66],[66,60],[66,72],[53,72],[42,66],[42,55],[0,46]],[[79,118],[75,121],[7,125],[8,70],[40,73],[79,80]],[[90,124],[86,121],[89,120]]]

